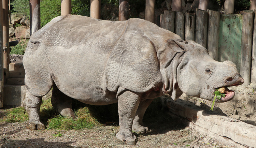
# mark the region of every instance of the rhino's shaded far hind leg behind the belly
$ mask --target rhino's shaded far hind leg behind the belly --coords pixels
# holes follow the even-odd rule
[[[72,110],[72,98],[62,93],[56,85],[53,85],[52,105],[62,116],[75,119],[74,111]]]

